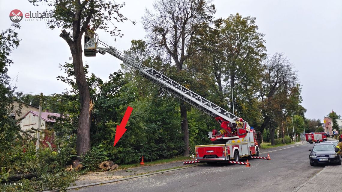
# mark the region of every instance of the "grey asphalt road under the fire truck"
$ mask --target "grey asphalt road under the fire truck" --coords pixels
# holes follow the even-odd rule
[[[310,166],[308,149],[314,144],[269,149],[271,160],[251,159],[244,165],[200,165],[163,174],[150,175],[99,186],[81,188],[79,192],[110,191],[293,191],[324,166]],[[267,157],[266,150],[260,156]]]

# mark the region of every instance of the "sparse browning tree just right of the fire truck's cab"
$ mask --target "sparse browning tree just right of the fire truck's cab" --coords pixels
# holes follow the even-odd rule
[[[264,117],[261,129],[269,130],[272,145],[275,145],[274,131],[284,118],[291,117],[298,109],[305,111],[300,106],[301,89],[297,81],[292,64],[284,54],[275,53],[266,60],[260,85],[260,107]]]

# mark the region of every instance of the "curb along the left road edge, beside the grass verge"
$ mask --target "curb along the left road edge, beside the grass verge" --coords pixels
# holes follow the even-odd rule
[[[166,172],[170,172],[170,171],[177,171],[177,170],[181,170],[181,169],[187,169],[187,168],[195,167],[195,166],[199,166],[199,165],[193,165],[193,166],[187,166],[187,167],[181,167],[181,168],[175,168],[175,169],[168,169],[168,170],[165,170],[165,171],[158,171],[158,172],[147,173],[147,174],[143,174],[143,175],[136,175],[136,176],[126,177],[126,178],[121,178],[121,179],[113,179],[113,180],[107,180],[107,181],[100,181],[100,182],[95,182],[95,183],[83,184],[83,185],[68,187],[66,189],[67,190],[73,190],[73,189],[79,189],[79,188],[84,188],[84,187],[95,186],[95,185],[99,185],[99,184],[114,183],[114,182],[124,181],[124,180],[128,180],[128,179],[134,179],[134,178],[145,177],[145,176],[149,176],[149,175],[166,173]],[[58,192],[58,191],[60,191],[60,190],[57,189],[57,190],[43,191],[43,192]]]

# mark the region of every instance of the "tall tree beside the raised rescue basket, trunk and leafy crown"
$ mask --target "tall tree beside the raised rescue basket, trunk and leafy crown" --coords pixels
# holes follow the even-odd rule
[[[68,44],[73,60],[73,75],[79,93],[80,114],[77,128],[77,155],[85,154],[90,150],[90,125],[93,103],[90,98],[90,90],[83,68],[82,61],[82,35],[87,26],[92,24],[96,29],[108,31],[111,35],[121,35],[115,26],[109,29],[107,23],[127,20],[119,11],[122,4],[116,4],[105,0],[77,0],[77,1],[53,1],[53,0],[29,0],[34,5],[46,3],[51,7],[47,14],[53,19],[48,21],[51,29],[62,28],[60,37]],[[134,22],[133,22],[134,23]]]

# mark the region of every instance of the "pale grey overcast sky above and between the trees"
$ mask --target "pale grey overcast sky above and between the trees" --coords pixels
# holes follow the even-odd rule
[[[122,3],[124,1],[116,1]],[[130,48],[132,39],[144,39],[141,17],[145,8],[152,9],[153,0],[128,0],[121,13],[137,24],[117,24],[123,38],[110,37],[96,31],[100,39],[119,50]],[[302,86],[302,105],[306,117],[320,119],[333,109],[342,115],[342,1],[341,0],[214,0],[215,18],[227,18],[230,14],[257,18],[259,32],[265,34],[267,54],[283,52],[298,71]],[[12,21],[9,14],[18,9],[23,13],[43,11],[44,6],[33,6],[27,0],[0,1],[1,30]],[[14,50],[14,64],[8,74],[18,74],[16,86],[19,91],[34,93],[61,93],[67,85],[57,81],[63,75],[58,64],[71,56],[67,43],[59,37],[60,29],[47,29],[44,21],[20,21],[18,30],[23,41]],[[90,73],[108,79],[110,73],[120,69],[121,61],[111,55],[83,57]],[[14,86],[13,82],[12,86]]]

